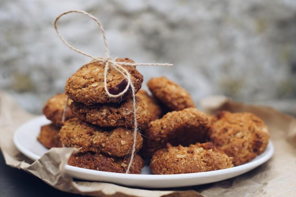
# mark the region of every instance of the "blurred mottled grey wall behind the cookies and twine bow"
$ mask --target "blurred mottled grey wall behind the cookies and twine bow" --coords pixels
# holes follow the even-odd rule
[[[296,114],[296,1],[1,1],[1,89],[30,112],[41,113],[90,60],[53,27],[70,9],[102,22],[112,58],[174,64],[138,68],[144,89],[149,78],[165,75],[196,104],[222,94]],[[58,26],[73,46],[104,55],[91,19],[68,14]]]

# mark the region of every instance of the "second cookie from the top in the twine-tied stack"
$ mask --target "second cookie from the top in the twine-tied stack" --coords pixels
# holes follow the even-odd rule
[[[133,99],[128,98],[121,103],[85,105],[74,101],[70,105],[72,113],[79,119],[101,127],[128,127],[133,128]],[[138,126],[149,122],[147,104],[136,98],[136,112]]]

